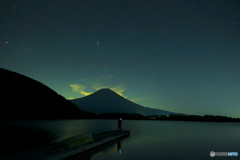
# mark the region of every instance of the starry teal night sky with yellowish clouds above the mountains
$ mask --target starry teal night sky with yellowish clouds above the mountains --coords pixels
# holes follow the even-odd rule
[[[239,0],[1,0],[0,16],[0,67],[67,99],[111,88],[146,107],[240,117]]]

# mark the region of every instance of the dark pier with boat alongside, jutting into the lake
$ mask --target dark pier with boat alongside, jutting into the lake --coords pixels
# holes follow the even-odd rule
[[[50,145],[42,146],[35,149],[30,149],[24,152],[3,155],[0,159],[8,160],[52,160],[52,159],[64,159],[64,160],[87,160],[91,156],[106,146],[112,143],[116,143],[119,140],[130,136],[130,131],[109,131],[100,134],[92,135],[93,141],[85,143],[73,148],[64,148],[59,143],[53,143]]]

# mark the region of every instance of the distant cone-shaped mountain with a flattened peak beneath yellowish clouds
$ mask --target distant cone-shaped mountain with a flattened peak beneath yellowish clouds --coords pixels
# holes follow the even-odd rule
[[[100,113],[138,113],[142,115],[169,115],[173,112],[143,107],[136,104],[114,91],[105,88],[83,98],[70,100],[80,109],[100,114]]]

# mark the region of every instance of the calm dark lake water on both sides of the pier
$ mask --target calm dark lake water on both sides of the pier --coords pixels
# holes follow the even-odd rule
[[[6,124],[25,130],[11,130],[12,135],[7,133],[1,135],[2,137],[15,135],[14,141],[20,141],[16,132],[23,132],[28,135],[23,139],[29,140],[29,145],[56,142],[74,135],[96,134],[117,128],[117,120],[10,121],[4,124],[1,122],[0,125]],[[130,137],[111,144],[93,155],[91,160],[206,160],[212,159],[210,151],[240,153],[240,123],[123,120],[123,129],[131,131]],[[18,144],[22,143],[20,141]],[[231,158],[238,159],[239,156]]]

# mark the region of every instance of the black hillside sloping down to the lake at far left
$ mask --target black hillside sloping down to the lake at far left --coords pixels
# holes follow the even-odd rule
[[[84,112],[44,84],[0,68],[0,119],[81,118]]]

